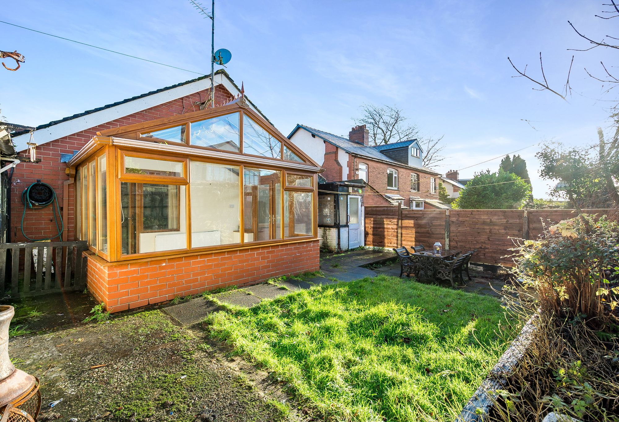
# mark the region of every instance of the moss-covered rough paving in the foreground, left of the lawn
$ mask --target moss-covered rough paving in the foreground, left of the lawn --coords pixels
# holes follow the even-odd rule
[[[59,413],[58,420],[193,422],[204,410],[217,421],[286,420],[285,407],[261,398],[199,337],[161,311],[143,311],[19,337],[9,353],[20,369],[40,377],[42,416]]]

